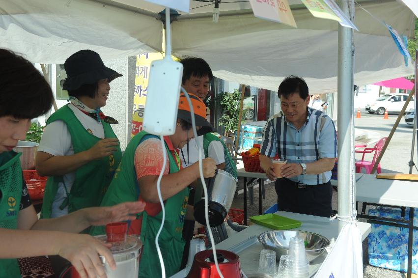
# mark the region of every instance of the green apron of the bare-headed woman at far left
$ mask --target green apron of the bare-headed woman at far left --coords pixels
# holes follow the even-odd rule
[[[11,151],[0,153],[0,156],[10,157],[0,165],[0,227],[16,229],[23,183],[19,161],[21,153]],[[11,277],[20,277],[17,259],[0,259],[0,278]]]

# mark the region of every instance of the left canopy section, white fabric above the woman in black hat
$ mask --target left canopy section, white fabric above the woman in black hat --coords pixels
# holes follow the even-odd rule
[[[61,64],[82,49],[104,60],[161,49],[162,23],[155,17],[96,1],[0,2],[0,47],[32,62]]]

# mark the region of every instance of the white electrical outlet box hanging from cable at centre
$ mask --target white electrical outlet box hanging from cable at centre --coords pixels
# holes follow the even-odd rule
[[[155,135],[174,134],[182,75],[183,65],[171,58],[151,63],[143,130]]]

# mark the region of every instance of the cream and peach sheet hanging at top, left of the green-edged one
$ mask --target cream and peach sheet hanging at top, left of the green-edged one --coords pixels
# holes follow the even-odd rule
[[[250,0],[255,17],[297,28],[287,0]]]

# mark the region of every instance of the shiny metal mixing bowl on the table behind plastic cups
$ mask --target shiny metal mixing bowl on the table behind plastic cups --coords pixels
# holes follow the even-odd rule
[[[281,255],[288,254],[290,238],[296,236],[303,238],[309,262],[330,246],[330,241],[326,237],[305,231],[268,231],[260,234],[258,241],[261,242],[265,249],[276,251],[276,258],[279,260]]]

